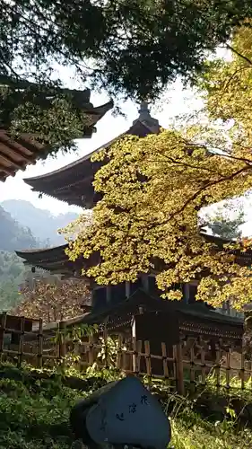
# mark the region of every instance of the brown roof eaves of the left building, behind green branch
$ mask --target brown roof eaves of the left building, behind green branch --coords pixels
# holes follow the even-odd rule
[[[88,126],[83,128],[83,137],[90,138],[95,131],[96,123],[113,107],[109,101],[98,107],[93,107],[90,102],[91,91],[69,91],[73,96],[74,104],[88,116]],[[76,136],[77,137],[77,136]],[[28,164],[35,164],[38,159],[48,154],[48,146],[42,145],[36,140],[36,136],[22,134],[12,138],[9,127],[0,124],[0,181],[6,180],[8,176],[14,176],[19,170],[24,171]]]

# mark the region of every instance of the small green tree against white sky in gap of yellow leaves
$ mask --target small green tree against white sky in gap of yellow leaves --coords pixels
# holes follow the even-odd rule
[[[214,215],[204,216],[204,219],[200,221],[201,228],[204,228],[205,231],[211,230],[213,235],[223,239],[240,239],[242,235],[240,226],[245,223],[244,210],[243,207],[239,207],[233,214],[232,209],[233,204],[227,203],[223,207],[219,207]]]

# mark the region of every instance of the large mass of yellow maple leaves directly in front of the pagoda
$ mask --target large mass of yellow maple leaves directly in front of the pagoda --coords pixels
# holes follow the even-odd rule
[[[198,212],[251,188],[252,154],[245,158],[237,145],[231,154],[210,154],[202,139],[196,143],[197,131],[127,136],[96,154],[108,162],[94,180],[102,199],[91,223],[86,214],[79,218],[81,231],[67,251],[71,260],[88,259],[83,274],[106,285],[159,271],[157,284],[169,298],[181,297],[172,286],[201,277],[198,299],[220,306],[232,296],[236,308],[248,303],[250,270],[231,251],[205,242]]]

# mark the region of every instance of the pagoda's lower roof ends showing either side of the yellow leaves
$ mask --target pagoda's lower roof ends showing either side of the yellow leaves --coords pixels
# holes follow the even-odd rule
[[[230,243],[229,240],[222,239],[213,235],[202,233],[206,242],[212,242],[216,245],[216,251],[230,251],[223,248],[224,244]],[[62,274],[73,276],[75,272],[80,272],[83,266],[87,266],[88,260],[79,258],[78,260],[69,260],[65,254],[68,244],[56,246],[54,248],[30,249],[15,251],[17,256],[24,260],[24,264],[31,265],[40,269],[48,270],[52,274]],[[241,252],[239,250],[230,251],[235,255],[235,261],[241,266],[252,266],[252,251]]]

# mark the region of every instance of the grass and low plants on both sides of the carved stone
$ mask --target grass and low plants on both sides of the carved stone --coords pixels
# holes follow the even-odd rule
[[[0,379],[0,449],[69,449],[74,442],[68,423],[70,409],[96,389],[96,385],[92,384],[89,391],[79,392],[65,387],[57,376],[53,380],[31,378],[28,367],[17,370],[5,366],[1,373],[5,373],[5,378]],[[92,376],[91,382],[98,379],[99,375]],[[252,447],[252,432],[239,426],[239,417],[232,409],[227,409],[221,422],[214,417],[200,417],[195,408],[196,399],[173,395],[167,396],[163,404],[171,417],[170,447]]]

